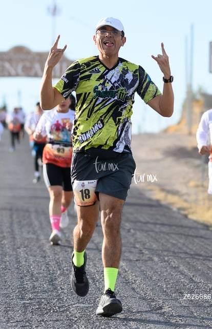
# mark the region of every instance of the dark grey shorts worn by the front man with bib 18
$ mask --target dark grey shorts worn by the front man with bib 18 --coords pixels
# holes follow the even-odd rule
[[[117,153],[111,157],[89,153],[72,153],[71,179],[97,180],[95,193],[105,193],[126,200],[136,164],[131,153]]]

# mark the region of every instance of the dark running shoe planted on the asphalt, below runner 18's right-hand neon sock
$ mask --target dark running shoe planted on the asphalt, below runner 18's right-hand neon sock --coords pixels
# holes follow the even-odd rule
[[[101,296],[99,306],[96,310],[96,315],[111,317],[112,315],[120,313],[121,311],[121,301],[116,298],[114,292],[112,292],[111,289],[105,291],[105,293]]]

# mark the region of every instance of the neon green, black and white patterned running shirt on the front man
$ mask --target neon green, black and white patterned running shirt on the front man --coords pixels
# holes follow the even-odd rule
[[[131,152],[135,92],[145,103],[161,93],[141,66],[119,58],[108,69],[98,56],[72,63],[54,88],[66,99],[76,92],[75,152],[90,147]]]

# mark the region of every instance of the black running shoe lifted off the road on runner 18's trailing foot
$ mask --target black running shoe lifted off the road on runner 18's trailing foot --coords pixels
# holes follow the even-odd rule
[[[86,276],[86,263],[87,255],[84,253],[84,264],[77,267],[73,263],[74,253],[72,254],[72,274],[71,274],[71,287],[75,294],[84,297],[89,292],[89,280]]]

